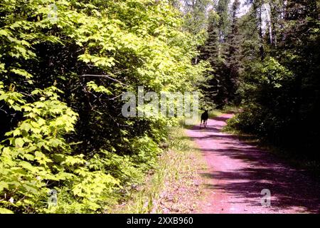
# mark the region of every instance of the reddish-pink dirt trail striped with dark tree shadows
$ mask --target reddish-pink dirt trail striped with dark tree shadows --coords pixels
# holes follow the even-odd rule
[[[224,114],[187,134],[208,162],[208,198],[199,213],[319,213],[320,185],[270,153],[222,133]],[[261,191],[271,192],[271,206],[262,206]]]

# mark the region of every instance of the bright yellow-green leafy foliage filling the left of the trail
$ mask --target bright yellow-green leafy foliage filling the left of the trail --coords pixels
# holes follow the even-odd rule
[[[196,88],[181,27],[169,1],[1,1],[0,212],[107,212],[144,180],[175,121],[121,95]]]

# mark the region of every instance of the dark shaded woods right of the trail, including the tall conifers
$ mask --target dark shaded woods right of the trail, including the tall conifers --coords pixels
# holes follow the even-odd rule
[[[235,17],[233,1],[222,37],[219,3],[201,47],[215,69],[213,102],[242,106],[230,126],[320,160],[320,2],[250,0],[250,11]]]

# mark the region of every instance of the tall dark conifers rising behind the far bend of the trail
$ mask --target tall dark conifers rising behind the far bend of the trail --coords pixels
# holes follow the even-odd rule
[[[218,108],[235,103],[240,68],[240,36],[238,10],[240,1],[218,1],[208,16],[208,38],[199,49],[200,58],[210,63],[208,85],[204,86],[207,100]]]

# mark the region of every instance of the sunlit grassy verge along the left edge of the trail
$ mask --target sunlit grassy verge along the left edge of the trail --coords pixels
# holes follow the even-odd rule
[[[182,127],[174,128],[168,148],[146,185],[132,193],[129,202],[115,207],[113,213],[193,213],[201,205],[206,179],[206,161]]]

